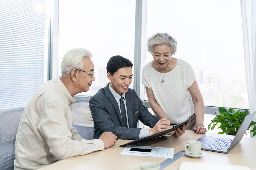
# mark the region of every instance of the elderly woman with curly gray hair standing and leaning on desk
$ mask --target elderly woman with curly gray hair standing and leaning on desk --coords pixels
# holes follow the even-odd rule
[[[177,51],[177,41],[167,33],[152,35],[147,50],[153,61],[142,69],[142,83],[148,102],[156,115],[172,123],[183,122],[190,117],[187,130],[198,134],[207,132],[204,127],[204,101],[191,66],[172,57]]]

